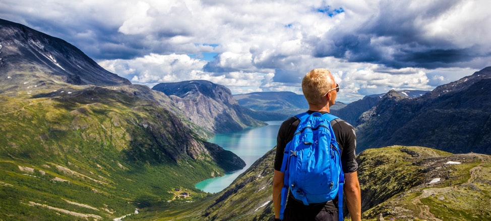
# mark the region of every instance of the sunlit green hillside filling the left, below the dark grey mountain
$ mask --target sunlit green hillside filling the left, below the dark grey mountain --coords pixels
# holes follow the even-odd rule
[[[0,95],[0,220],[107,220],[197,201],[207,194],[195,183],[239,167],[231,152],[128,91]]]

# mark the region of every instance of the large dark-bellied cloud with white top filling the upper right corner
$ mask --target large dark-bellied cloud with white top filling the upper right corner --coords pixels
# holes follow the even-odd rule
[[[482,68],[471,61],[489,57],[491,44],[483,36],[491,23],[482,6],[485,1],[380,1],[370,16],[347,11],[363,21],[335,26],[313,38],[314,56],[334,56],[349,62],[383,64],[392,68]],[[319,44],[318,44],[319,42]]]

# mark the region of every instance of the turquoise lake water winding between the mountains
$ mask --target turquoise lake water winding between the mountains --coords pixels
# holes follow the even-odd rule
[[[225,150],[232,151],[246,162],[246,167],[224,176],[197,183],[195,186],[205,192],[216,193],[230,185],[238,175],[246,171],[257,159],[276,145],[276,135],[282,121],[268,121],[267,126],[248,128],[238,132],[217,134],[208,142],[215,143]],[[273,162],[271,162],[273,169]]]

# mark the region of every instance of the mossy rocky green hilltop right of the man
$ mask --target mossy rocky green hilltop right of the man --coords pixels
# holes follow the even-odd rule
[[[358,159],[365,218],[380,213],[396,220],[491,217],[487,209],[491,206],[491,158],[487,155],[392,146],[368,149]]]

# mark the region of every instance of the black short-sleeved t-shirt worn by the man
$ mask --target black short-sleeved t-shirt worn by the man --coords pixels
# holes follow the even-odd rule
[[[312,114],[314,112],[308,111],[307,113]],[[321,112],[321,114],[326,113],[327,112]],[[286,144],[293,139],[293,134],[295,133],[299,123],[300,120],[298,118],[291,117],[284,121],[278,130],[278,136],[276,137],[276,156],[274,161],[274,169],[277,171],[281,171],[281,164],[283,162]],[[336,136],[336,142],[341,150],[341,164],[343,167],[343,172],[355,172],[358,169],[358,163],[356,162],[356,134],[353,126],[341,119],[333,120],[331,125],[334,135]],[[289,201],[290,199],[292,198],[290,197]],[[299,203],[303,205],[301,202]],[[326,207],[329,207],[329,209],[334,209],[335,207],[333,206],[334,203],[332,202],[326,204]]]

